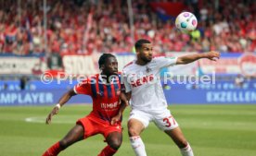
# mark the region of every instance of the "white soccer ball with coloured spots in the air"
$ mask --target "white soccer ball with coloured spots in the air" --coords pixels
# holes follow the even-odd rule
[[[177,16],[175,20],[175,26],[182,32],[196,30],[198,26],[198,19],[194,14],[190,12],[182,12]]]

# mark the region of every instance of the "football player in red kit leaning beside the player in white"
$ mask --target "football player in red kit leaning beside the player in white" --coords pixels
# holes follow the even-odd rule
[[[98,60],[100,74],[85,78],[82,83],[65,93],[46,118],[50,124],[52,116],[70,98],[77,94],[86,94],[93,99],[93,111],[79,119],[76,126],[56,144],[45,151],[43,156],[55,156],[73,143],[101,134],[106,139],[106,146],[98,156],[111,156],[122,144],[122,112],[128,104],[122,93],[121,74],[118,72],[118,62],[113,54],[102,54]]]

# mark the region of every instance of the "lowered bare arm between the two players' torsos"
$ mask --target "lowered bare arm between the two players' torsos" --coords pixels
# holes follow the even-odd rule
[[[119,109],[118,114],[111,118],[111,125],[115,125],[118,121],[121,120],[123,111],[125,110],[126,106],[129,105],[129,100],[126,98],[125,93],[121,92],[120,99],[122,101],[121,107]]]

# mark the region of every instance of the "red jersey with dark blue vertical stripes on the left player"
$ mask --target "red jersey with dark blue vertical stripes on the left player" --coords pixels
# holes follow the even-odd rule
[[[85,78],[83,82],[74,87],[77,94],[86,94],[93,99],[93,111],[97,117],[110,121],[113,116],[118,114],[121,100],[121,74],[113,78],[106,84],[99,74]]]

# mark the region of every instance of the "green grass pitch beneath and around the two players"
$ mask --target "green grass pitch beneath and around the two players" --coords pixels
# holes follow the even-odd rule
[[[256,156],[256,105],[171,105],[169,108],[190,142],[195,156]],[[52,124],[45,117],[52,106],[0,107],[0,155],[39,156],[63,138],[91,105],[65,105]],[[127,108],[123,142],[117,156],[133,156],[127,137]],[[155,125],[143,132],[147,156],[180,156],[178,148]],[[106,146],[97,135],[62,151],[60,156],[96,156]]]

